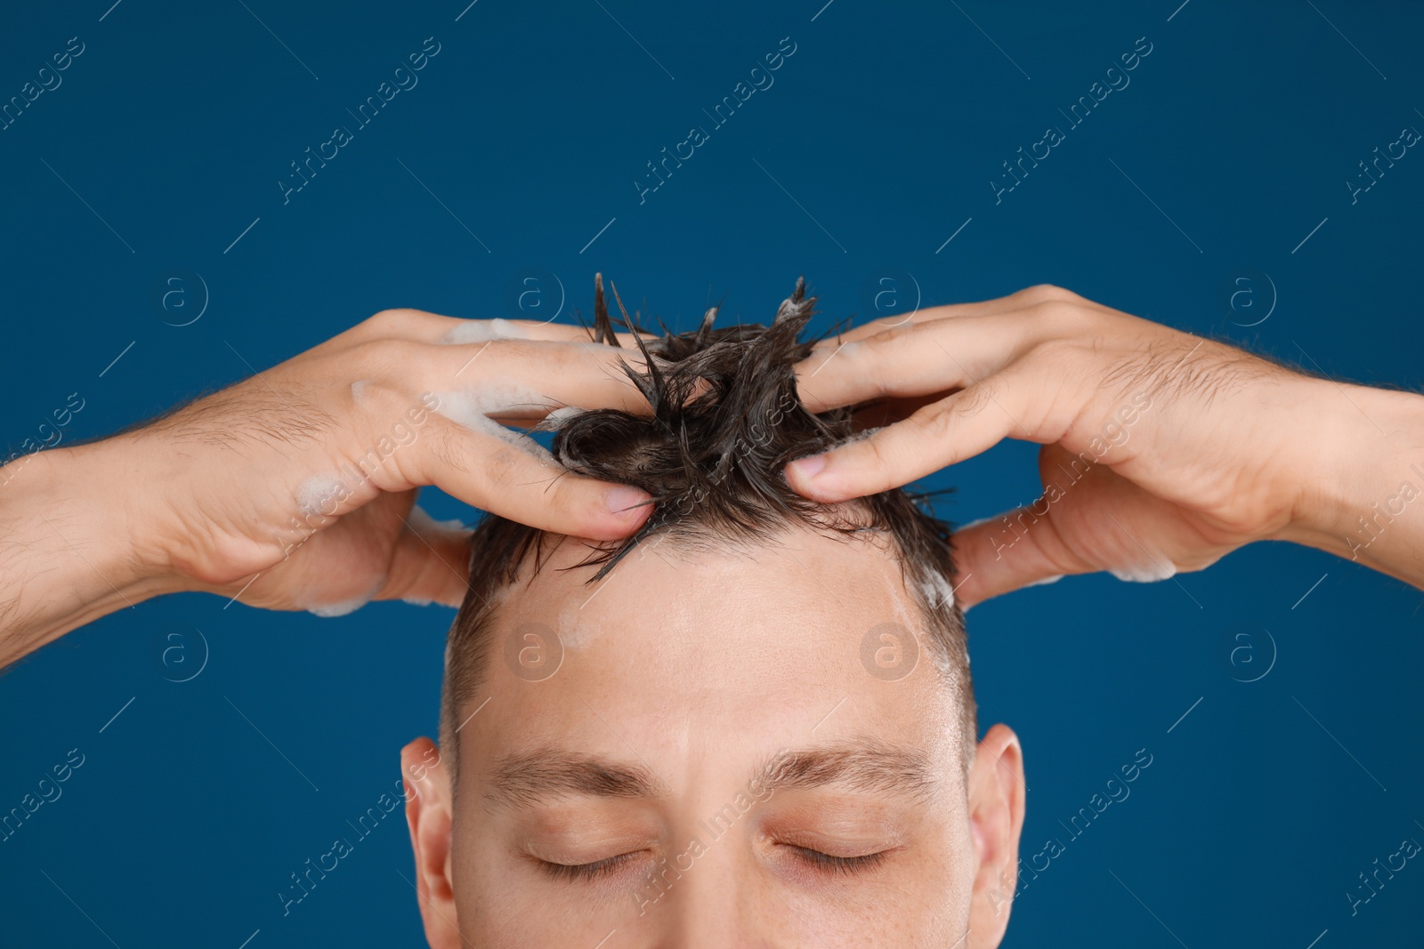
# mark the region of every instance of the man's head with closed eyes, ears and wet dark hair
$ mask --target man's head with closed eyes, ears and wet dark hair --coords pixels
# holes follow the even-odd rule
[[[812,303],[635,337],[651,414],[558,415],[561,464],[652,495],[634,536],[476,532],[444,756],[404,754],[431,945],[997,945],[1021,758],[975,748],[947,525],[780,475],[854,430],[796,397]]]

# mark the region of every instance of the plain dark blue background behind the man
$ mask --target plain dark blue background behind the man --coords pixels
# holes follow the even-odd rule
[[[587,313],[595,270],[674,329],[723,295],[728,319],[766,320],[797,275],[827,320],[1051,282],[1339,378],[1421,381],[1424,157],[1357,203],[1343,184],[1424,128],[1417,4],[108,3],[10,4],[0,30],[0,98],[85,44],[0,131],[6,454],[70,393],[66,438],[95,437],[383,307],[533,316],[510,287],[540,275],[560,319]],[[419,85],[283,203],[289,162],[431,36]],[[639,203],[645,162],[782,37],[775,85]],[[1068,129],[1058,110],[1138,37],[1131,84]],[[1047,125],[1067,141],[995,203],[1001,162]],[[1035,451],[933,478],[958,487],[943,514],[1032,499]],[[1353,916],[1344,894],[1424,841],[1420,605],[1257,545],[1175,582],[1071,578],[975,609],[981,720],[1027,750],[1024,862],[1067,844],[1025,874],[1005,945],[1417,940],[1424,868]],[[0,842],[0,943],[423,945],[399,812],[289,916],[273,895],[434,734],[451,616],[174,596],[13,667],[0,810],[70,748],[85,760]],[[208,654],[189,682],[162,662],[175,643]],[[1071,839],[1061,822],[1139,748],[1131,797]]]

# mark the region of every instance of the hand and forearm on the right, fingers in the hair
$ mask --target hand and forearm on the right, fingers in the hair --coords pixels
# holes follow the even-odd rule
[[[817,501],[909,484],[1004,438],[1042,445],[1044,497],[956,534],[965,606],[1068,573],[1200,571],[1255,541],[1424,586],[1424,515],[1401,492],[1424,489],[1415,393],[1303,376],[1052,286],[867,323],[797,376],[812,411],[880,398],[876,421],[890,423],[787,467]],[[1095,464],[1075,477],[1081,452]]]

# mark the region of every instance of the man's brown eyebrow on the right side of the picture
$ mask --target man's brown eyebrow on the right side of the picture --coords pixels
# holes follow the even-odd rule
[[[928,754],[873,737],[800,750],[783,748],[752,778],[752,787],[759,794],[830,784],[914,798],[927,798],[938,787]]]

